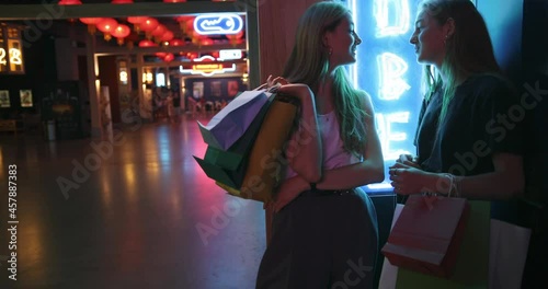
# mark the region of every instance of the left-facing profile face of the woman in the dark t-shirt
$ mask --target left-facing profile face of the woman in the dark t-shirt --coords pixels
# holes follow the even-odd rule
[[[430,13],[419,12],[415,30],[409,39],[414,45],[416,61],[441,68],[445,57],[444,41],[444,32],[437,21]]]

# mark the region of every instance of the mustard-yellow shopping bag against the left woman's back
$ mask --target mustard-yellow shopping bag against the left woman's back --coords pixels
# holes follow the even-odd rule
[[[272,199],[285,170],[282,151],[294,127],[298,105],[293,96],[276,95],[251,149],[242,186],[231,187],[229,194],[259,201]]]

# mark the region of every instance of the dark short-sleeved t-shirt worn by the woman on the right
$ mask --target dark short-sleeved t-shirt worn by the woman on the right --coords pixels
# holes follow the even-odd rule
[[[468,78],[438,127],[441,105],[442,93],[434,93],[419,123],[416,146],[425,171],[483,174],[494,171],[493,153],[523,153],[524,108],[507,81],[488,74]]]

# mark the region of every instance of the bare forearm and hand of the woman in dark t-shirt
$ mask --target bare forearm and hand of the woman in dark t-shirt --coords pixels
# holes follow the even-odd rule
[[[494,172],[473,176],[454,176],[452,196],[471,199],[510,199],[518,197],[525,189],[525,176],[521,155],[495,153],[492,157]],[[449,194],[452,176],[429,173],[401,163],[390,169],[390,180],[398,194],[421,192]]]

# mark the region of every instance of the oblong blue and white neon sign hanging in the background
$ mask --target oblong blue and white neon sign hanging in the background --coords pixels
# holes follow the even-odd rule
[[[243,20],[238,14],[202,14],[194,20],[194,31],[201,35],[237,34],[243,28]]]

